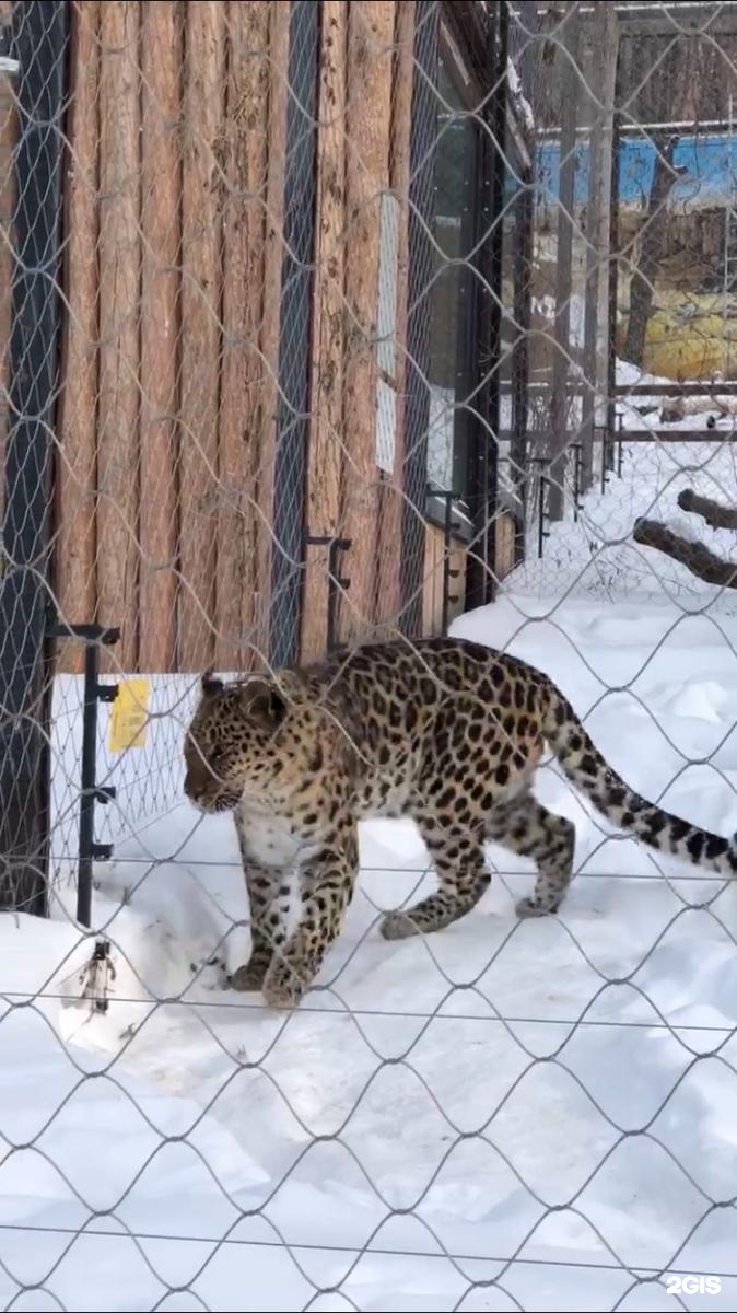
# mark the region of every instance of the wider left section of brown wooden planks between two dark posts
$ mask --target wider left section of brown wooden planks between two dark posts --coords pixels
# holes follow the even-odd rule
[[[122,626],[110,666],[243,668],[269,603],[289,5],[71,14],[59,608]]]

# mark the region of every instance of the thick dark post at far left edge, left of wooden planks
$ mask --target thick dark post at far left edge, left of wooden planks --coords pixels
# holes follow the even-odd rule
[[[50,825],[51,558],[68,12],[12,8],[18,60],[10,425],[0,583],[0,906],[43,915]]]

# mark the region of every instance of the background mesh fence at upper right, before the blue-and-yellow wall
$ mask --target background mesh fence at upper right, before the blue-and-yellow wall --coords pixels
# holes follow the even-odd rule
[[[540,20],[560,32],[549,76],[539,60],[528,71],[528,419],[543,437],[515,583],[532,596],[564,579],[598,599],[639,595],[653,576],[632,550],[637,519],[729,554],[729,536],[685,519],[678,495],[732,500],[732,20],[721,5],[573,7]],[[711,574],[688,566],[661,562],[656,595],[666,583],[686,607],[708,596],[732,613],[729,593],[704,591]]]

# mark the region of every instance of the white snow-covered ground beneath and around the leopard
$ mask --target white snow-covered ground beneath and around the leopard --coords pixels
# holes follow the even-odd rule
[[[455,632],[549,671],[636,788],[737,829],[736,620],[510,595]],[[578,825],[557,918],[515,920],[530,868],[490,848],[472,915],[387,944],[426,857],[367,825],[289,1016],[222,989],[248,943],[228,819],[140,829],[122,794],[108,1012],[79,1001],[63,881],[54,919],[0,919],[3,1306],[734,1309],[737,889],[612,835],[549,768],[539,793]]]

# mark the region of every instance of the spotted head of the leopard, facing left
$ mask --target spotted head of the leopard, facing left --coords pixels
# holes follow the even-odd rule
[[[201,811],[228,811],[247,792],[262,792],[279,762],[278,734],[289,704],[269,679],[201,681],[185,735],[185,793]]]

